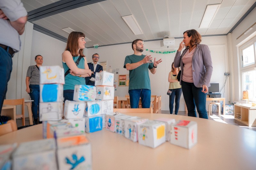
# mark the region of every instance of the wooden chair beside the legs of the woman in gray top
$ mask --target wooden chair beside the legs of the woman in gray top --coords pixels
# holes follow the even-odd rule
[[[22,99],[11,99],[11,100],[4,100],[4,105],[12,105],[12,106],[17,106],[17,105],[21,105],[21,114],[19,115],[14,115],[13,117],[16,119],[17,118],[21,118],[21,121],[22,121],[22,126],[25,126],[25,115],[24,115],[24,112],[25,112],[25,99],[22,98]],[[32,115],[31,115],[31,118],[32,118]],[[16,123],[16,119],[14,120],[14,122]],[[29,118],[30,119],[30,118]]]

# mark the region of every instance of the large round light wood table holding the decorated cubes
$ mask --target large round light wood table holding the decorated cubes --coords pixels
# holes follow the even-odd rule
[[[168,142],[155,149],[103,129],[87,134],[92,143],[93,169],[255,169],[256,131],[213,120],[170,114],[127,114],[196,121],[198,142],[185,149]],[[42,124],[0,137],[0,144],[42,139]]]

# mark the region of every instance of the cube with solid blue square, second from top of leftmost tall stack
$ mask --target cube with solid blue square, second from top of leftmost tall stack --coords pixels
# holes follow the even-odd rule
[[[40,85],[40,102],[62,102],[63,85],[46,84]]]

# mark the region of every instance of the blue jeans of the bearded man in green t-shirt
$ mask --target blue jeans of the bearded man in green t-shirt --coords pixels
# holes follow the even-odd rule
[[[151,90],[149,89],[132,89],[129,90],[131,108],[138,108],[141,98],[142,108],[150,107]]]

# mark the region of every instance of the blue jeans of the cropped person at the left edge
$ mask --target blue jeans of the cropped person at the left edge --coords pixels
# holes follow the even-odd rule
[[[9,48],[7,49],[9,50]],[[4,48],[0,47],[0,115],[4,103],[5,94],[7,92],[7,83],[10,80],[12,72],[12,55]]]

